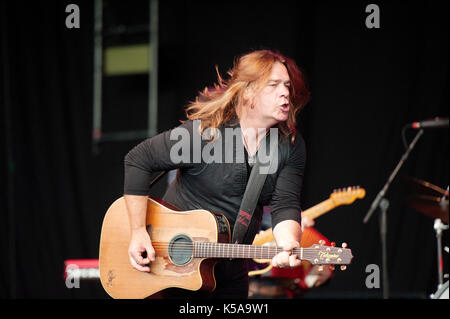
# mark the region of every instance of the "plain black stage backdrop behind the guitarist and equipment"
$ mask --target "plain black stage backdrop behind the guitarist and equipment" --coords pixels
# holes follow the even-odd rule
[[[96,282],[67,289],[63,262],[98,257],[103,214],[121,196],[123,156],[138,141],[92,151],[93,4],[73,2],[80,7],[80,29],[65,27],[69,1],[0,4],[3,298],[107,297]],[[186,103],[215,81],[214,65],[225,72],[238,54],[278,49],[305,70],[312,91],[299,117],[308,150],[303,208],[334,188],[367,191],[363,200],[317,219],[316,228],[338,244],[347,242],[355,258],[305,297],[381,297],[381,289],[365,286],[365,267],[381,266],[378,213],[368,224],[363,217],[403,154],[401,128],[448,117],[447,1],[376,1],[380,29],[365,27],[369,3],[160,3],[158,131],[183,119]],[[136,11],[139,5],[129,2]],[[145,105],[146,81],[108,84],[130,96],[117,112]],[[116,113],[105,121],[120,125],[124,118]],[[408,141],[414,134],[407,131]],[[387,194],[394,297],[425,298],[436,289],[433,220],[405,205],[409,189],[401,177],[446,188],[447,135],[426,131]]]

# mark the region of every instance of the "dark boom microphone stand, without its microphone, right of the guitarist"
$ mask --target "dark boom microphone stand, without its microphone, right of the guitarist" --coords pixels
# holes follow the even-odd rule
[[[389,298],[389,280],[388,280],[388,272],[387,272],[387,246],[386,246],[386,233],[387,233],[387,218],[386,218],[386,212],[389,207],[389,201],[384,198],[384,195],[386,195],[386,192],[391,185],[392,181],[394,180],[395,176],[397,175],[400,168],[405,163],[406,159],[409,156],[409,153],[412,151],[414,146],[416,145],[417,141],[423,134],[423,129],[421,129],[416,136],[414,137],[414,140],[409,144],[406,152],[403,154],[402,158],[398,162],[397,166],[395,167],[394,171],[389,176],[386,184],[384,187],[380,190],[378,195],[375,197],[374,201],[372,202],[372,205],[370,206],[369,211],[367,212],[366,216],[364,217],[364,224],[367,224],[369,221],[369,218],[372,216],[373,212],[379,207],[381,210],[380,215],[380,236],[381,236],[381,253],[382,253],[382,272],[383,272],[383,299]]]

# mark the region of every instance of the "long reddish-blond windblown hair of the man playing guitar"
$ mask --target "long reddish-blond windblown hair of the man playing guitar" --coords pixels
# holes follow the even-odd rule
[[[239,118],[242,107],[248,100],[244,96],[245,90],[249,86],[256,87],[257,90],[262,88],[275,62],[280,62],[286,67],[291,81],[288,119],[278,123],[278,128],[282,135],[290,136],[293,142],[296,114],[309,101],[310,93],[303,73],[296,63],[270,50],[258,50],[242,55],[227,72],[230,76],[228,80],[220,76],[216,66],[218,83],[215,83],[213,88],[206,87],[199,92],[195,101],[186,108],[186,117],[191,120],[201,120],[202,134],[205,129],[216,129],[236,117]],[[212,135],[211,138],[214,136]]]

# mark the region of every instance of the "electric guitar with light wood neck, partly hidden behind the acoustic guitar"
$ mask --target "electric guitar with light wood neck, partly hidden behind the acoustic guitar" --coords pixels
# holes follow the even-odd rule
[[[324,200],[323,202],[311,208],[308,208],[307,210],[302,212],[302,215],[314,220],[338,206],[352,204],[356,199],[361,199],[365,196],[365,189],[359,186],[335,189],[333,190],[333,193],[330,194],[330,197],[327,200]],[[309,247],[319,242],[319,239],[320,238],[317,237],[316,232],[311,231],[309,228],[305,228],[302,234],[300,247]],[[272,228],[266,229],[265,231],[257,234],[255,236],[255,239],[253,240],[253,245],[276,246],[272,234]],[[269,263],[269,265],[262,269],[249,271],[248,274],[250,276],[260,275],[272,269],[272,264],[270,263],[271,260],[269,259],[255,259],[255,261],[259,264]]]

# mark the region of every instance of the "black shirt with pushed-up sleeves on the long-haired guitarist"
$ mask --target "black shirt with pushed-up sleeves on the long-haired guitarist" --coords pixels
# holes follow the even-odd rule
[[[241,129],[239,125],[223,126],[222,138],[208,143],[197,124],[185,121],[134,147],[125,156],[124,193],[148,195],[153,172],[178,169],[163,199],[181,210],[222,213],[233,227],[250,175]],[[235,134],[232,144],[230,139],[223,142],[223,137],[230,136],[227,133]],[[302,136],[297,134],[293,144],[281,137],[278,154],[277,170],[267,176],[254,213],[261,219],[262,206],[270,205],[272,227],[283,220],[301,222],[300,191],[306,162]],[[251,238],[257,231],[252,230]]]

